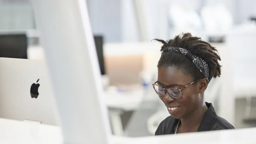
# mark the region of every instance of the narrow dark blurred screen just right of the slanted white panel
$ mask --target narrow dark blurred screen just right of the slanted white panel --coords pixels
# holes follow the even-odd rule
[[[100,67],[100,73],[101,75],[105,75],[105,67],[104,67],[104,58],[103,58],[103,36],[94,36],[98,61],[99,61],[99,67]]]

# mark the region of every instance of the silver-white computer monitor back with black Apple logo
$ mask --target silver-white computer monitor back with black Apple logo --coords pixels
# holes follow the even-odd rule
[[[0,117],[57,125],[53,90],[45,61],[0,58],[0,68]],[[38,79],[39,95],[32,98],[31,86]]]

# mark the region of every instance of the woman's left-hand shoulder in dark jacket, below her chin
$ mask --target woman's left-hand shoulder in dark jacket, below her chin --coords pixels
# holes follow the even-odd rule
[[[155,135],[168,134],[172,128],[175,119],[172,116],[166,117],[158,126]]]

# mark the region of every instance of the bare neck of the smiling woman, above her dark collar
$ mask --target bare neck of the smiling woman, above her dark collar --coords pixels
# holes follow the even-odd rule
[[[207,109],[205,102],[202,102],[190,115],[181,118],[182,129],[186,131],[197,131]]]

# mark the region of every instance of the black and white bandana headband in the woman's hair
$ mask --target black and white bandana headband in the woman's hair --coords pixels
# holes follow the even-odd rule
[[[195,56],[195,55],[192,55],[192,53],[185,49],[185,48],[180,48],[180,47],[168,47],[168,48],[165,48],[163,50],[163,53],[164,52],[167,52],[167,51],[171,51],[171,52],[179,52],[183,55],[185,55],[187,58],[189,58],[194,64],[195,66],[203,73],[203,75],[205,76],[205,78],[208,78],[208,81],[210,82],[211,79],[212,79],[212,76],[211,74],[209,73],[209,66],[208,64],[202,60],[201,58],[199,58],[198,56]],[[208,82],[208,83],[209,83]]]

